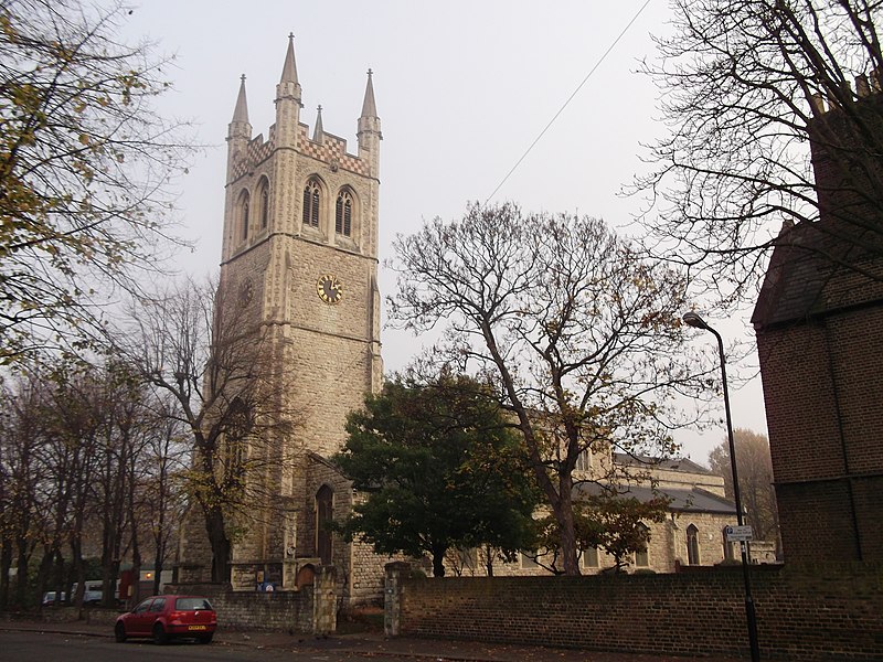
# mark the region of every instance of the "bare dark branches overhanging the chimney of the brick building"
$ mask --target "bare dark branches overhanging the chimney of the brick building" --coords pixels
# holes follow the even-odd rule
[[[651,249],[724,305],[752,295],[774,242],[879,279],[860,257],[883,256],[881,4],[671,7],[645,65],[670,127],[636,182]]]

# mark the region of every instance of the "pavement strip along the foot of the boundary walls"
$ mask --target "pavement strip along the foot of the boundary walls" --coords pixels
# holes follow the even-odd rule
[[[106,623],[41,622],[36,620],[7,620],[0,630],[33,631],[84,637],[113,638],[113,627]],[[434,660],[436,662],[735,662],[727,658],[684,658],[679,655],[646,655],[617,651],[585,651],[544,647],[510,645],[490,642],[412,637],[384,637],[382,632],[357,632],[315,637],[304,633],[263,630],[219,629],[212,645],[249,647],[299,651],[337,651],[371,656],[401,656],[403,660]]]

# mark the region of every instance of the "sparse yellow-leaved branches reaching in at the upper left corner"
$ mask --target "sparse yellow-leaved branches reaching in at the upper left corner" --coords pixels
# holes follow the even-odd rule
[[[189,147],[151,106],[166,62],[118,41],[128,13],[0,3],[0,363],[98,334],[103,297],[169,238]]]

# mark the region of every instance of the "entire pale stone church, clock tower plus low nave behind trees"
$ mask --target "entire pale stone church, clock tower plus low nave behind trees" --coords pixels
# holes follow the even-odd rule
[[[276,121],[253,136],[243,76],[227,131],[226,199],[219,291],[232,293],[236,314],[268,341],[280,367],[270,391],[297,412],[297,430],[278,440],[288,458],[252,521],[233,540],[235,591],[296,590],[333,567],[344,604],[382,595],[383,566],[363,543],[345,543],[329,522],[340,521],[359,498],[329,461],[344,444],[347,415],[381,388],[377,288],[380,141],[372,85],[358,118],[355,150],[327,132],[321,107],[310,128],[300,121],[302,90],[289,36],[276,86]],[[222,314],[222,313],[219,313]],[[609,455],[609,453],[608,453]],[[597,462],[623,458],[594,458]],[[664,524],[652,524],[650,548],[634,567],[672,572],[678,565],[712,565],[732,555],[722,540],[733,523],[723,480],[684,460],[655,466],[655,481],[673,502]],[[661,482],[660,482],[661,480]],[[632,485],[637,496],[649,484]],[[645,494],[646,493],[646,494]],[[195,509],[194,509],[195,510]],[[609,565],[587,551],[583,572]],[[535,574],[522,558],[500,574]],[[205,525],[192,512],[182,526],[178,580],[206,581],[212,552]]]

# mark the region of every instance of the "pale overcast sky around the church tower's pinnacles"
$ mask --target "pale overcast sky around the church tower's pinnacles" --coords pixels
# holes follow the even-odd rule
[[[198,248],[182,255],[181,269],[217,269],[224,138],[240,76],[246,75],[253,136],[266,137],[289,32],[302,86],[301,121],[311,129],[321,104],[325,130],[345,138],[351,152],[365,72],[374,71],[384,138],[381,260],[391,256],[396,234],[435,216],[455,218],[468,201],[488,197],[528,211],[588,214],[636,233],[631,218],[640,201],[619,193],[641,169],[640,145],[662,127],[657,90],[635,72],[641,58],[655,57],[650,35],[662,33],[668,20],[666,0],[643,6],[645,0],[145,0],[130,17],[126,39],[149,36],[160,52],[175,55],[168,72],[174,90],[160,109],[193,120],[199,141],[209,146],[182,183],[183,233]],[[382,293],[393,285],[381,267]],[[734,339],[753,339],[747,319],[719,328]],[[419,346],[389,329],[382,341],[387,371],[403,367]],[[708,333],[694,339],[713,341]],[[746,363],[732,372],[753,371]],[[759,377],[734,391],[733,417],[737,427],[766,434]],[[684,455],[704,462],[724,436],[721,426],[678,439]]]

